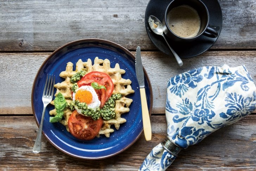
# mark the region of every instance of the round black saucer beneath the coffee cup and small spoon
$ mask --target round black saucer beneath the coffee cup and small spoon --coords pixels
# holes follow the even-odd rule
[[[165,16],[165,10],[170,2],[173,0],[150,0],[147,5],[145,13],[145,26],[148,33],[148,37],[151,39],[153,44],[162,52],[173,56],[171,50],[167,46],[164,38],[161,35],[155,34],[148,24],[148,18],[150,15],[154,15],[161,22]],[[218,0],[201,0],[204,2],[209,11],[209,26],[214,28],[218,34],[222,29],[222,11],[219,5]],[[168,37],[166,37],[168,39]],[[189,43],[178,43],[172,40],[168,40],[171,47],[181,58],[190,58],[195,57],[205,51],[207,51],[215,42],[217,38],[209,38],[205,35],[202,35],[198,39]]]

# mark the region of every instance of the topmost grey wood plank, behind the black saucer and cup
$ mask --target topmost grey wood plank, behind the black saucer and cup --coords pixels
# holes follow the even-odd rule
[[[54,51],[100,38],[129,50],[156,50],[144,24],[148,0],[13,0],[0,2],[0,52]],[[223,29],[211,49],[256,49],[256,1],[219,0]]]

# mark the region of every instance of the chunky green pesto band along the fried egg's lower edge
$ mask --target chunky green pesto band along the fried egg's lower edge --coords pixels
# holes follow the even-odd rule
[[[100,108],[97,107],[94,111],[92,108],[88,108],[86,103],[80,103],[78,100],[75,100],[75,103],[71,102],[67,106],[71,111],[75,110],[75,106],[79,109],[82,109],[82,114],[87,117],[92,117],[92,119],[97,120],[102,117],[104,120],[114,119],[116,116],[115,113],[115,100],[118,100],[122,97],[121,94],[112,94],[112,96],[108,99],[105,105]]]

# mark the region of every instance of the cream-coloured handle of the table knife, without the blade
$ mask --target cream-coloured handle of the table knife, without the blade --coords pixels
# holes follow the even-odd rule
[[[151,124],[150,124],[149,114],[148,114],[148,105],[147,105],[145,88],[140,88],[140,98],[141,98],[143,131],[145,134],[146,141],[150,141],[152,133],[151,133]]]

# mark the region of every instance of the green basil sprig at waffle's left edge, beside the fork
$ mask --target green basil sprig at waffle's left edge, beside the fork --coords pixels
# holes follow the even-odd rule
[[[58,122],[62,119],[63,116],[63,111],[66,107],[66,99],[65,97],[62,95],[62,93],[58,93],[57,96],[54,99],[54,105],[55,105],[55,109],[56,109],[56,115],[55,117],[50,117],[50,123],[54,123],[54,122]]]

